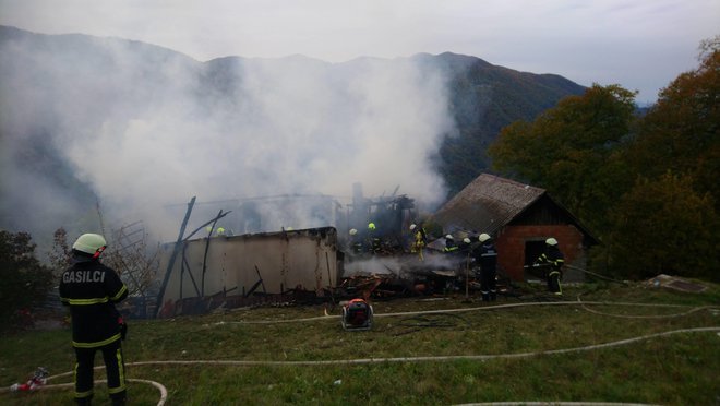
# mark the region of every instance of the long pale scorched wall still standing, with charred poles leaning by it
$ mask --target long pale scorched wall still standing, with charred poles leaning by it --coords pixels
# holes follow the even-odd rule
[[[343,274],[332,227],[204,237],[160,250],[158,314],[204,313],[259,302],[322,297]]]

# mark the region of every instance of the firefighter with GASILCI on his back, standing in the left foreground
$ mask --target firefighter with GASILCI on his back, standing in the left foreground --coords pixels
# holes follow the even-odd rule
[[[115,303],[128,297],[118,274],[99,262],[107,243],[97,234],[84,234],[72,246],[73,263],[62,274],[60,301],[70,308],[72,345],[75,349],[75,401],[93,398],[95,353],[100,350],[112,405],[125,403],[125,372],[120,341],[127,325]]]

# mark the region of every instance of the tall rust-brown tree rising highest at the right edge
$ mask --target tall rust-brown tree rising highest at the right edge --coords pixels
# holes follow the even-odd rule
[[[720,36],[703,43],[700,65],[660,92],[626,152],[634,172],[685,172],[720,204]],[[720,206],[716,205],[716,210]]]

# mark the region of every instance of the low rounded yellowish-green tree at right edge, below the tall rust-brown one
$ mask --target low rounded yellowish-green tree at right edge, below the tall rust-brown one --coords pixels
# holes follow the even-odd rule
[[[633,278],[657,274],[718,279],[720,217],[687,175],[640,178],[613,210],[611,265]]]

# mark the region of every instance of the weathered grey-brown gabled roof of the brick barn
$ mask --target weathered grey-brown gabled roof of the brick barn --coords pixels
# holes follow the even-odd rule
[[[552,202],[565,213],[571,223],[578,226],[593,242],[596,241],[566,208],[548,195],[544,189],[489,174],[481,174],[465,187],[433,215],[433,219],[448,232],[475,230],[494,235],[541,198]]]

